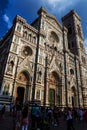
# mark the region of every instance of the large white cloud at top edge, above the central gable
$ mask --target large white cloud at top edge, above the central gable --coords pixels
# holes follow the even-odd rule
[[[65,11],[69,6],[75,5],[80,0],[42,0],[53,12]]]

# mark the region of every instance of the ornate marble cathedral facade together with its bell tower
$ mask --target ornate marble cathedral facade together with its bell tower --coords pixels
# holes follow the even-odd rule
[[[62,25],[44,8],[28,24],[16,16],[0,40],[0,101],[87,107],[87,56],[81,19],[71,10]]]

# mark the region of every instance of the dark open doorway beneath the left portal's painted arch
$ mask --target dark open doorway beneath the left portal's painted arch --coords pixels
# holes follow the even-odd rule
[[[22,103],[24,100],[24,92],[25,89],[23,87],[17,88],[17,99],[20,101],[20,103]]]

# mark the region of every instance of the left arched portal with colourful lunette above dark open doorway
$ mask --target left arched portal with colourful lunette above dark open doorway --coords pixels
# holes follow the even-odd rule
[[[22,71],[18,74],[18,87],[16,98],[20,99],[20,102],[29,101],[30,99],[30,75],[27,71]]]

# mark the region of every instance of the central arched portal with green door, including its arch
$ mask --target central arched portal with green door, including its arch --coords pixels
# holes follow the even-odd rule
[[[49,104],[51,106],[62,105],[62,84],[57,72],[53,71],[49,80]]]

